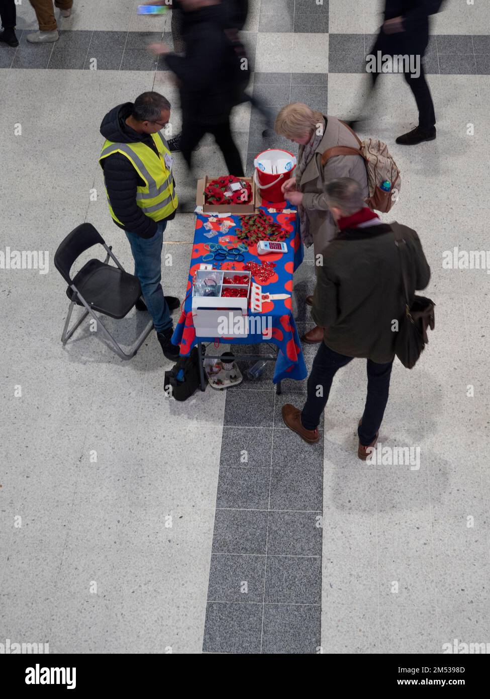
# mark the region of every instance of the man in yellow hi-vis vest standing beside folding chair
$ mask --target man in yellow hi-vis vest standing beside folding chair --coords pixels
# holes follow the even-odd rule
[[[171,311],[180,306],[161,288],[161,250],[167,221],[178,205],[173,157],[161,129],[170,119],[170,103],[158,92],[143,92],[133,103],[110,110],[103,118],[106,138],[99,162],[110,215],[127,235],[148,312],[167,359],[179,356],[173,345]],[[145,310],[143,301],[136,304]]]

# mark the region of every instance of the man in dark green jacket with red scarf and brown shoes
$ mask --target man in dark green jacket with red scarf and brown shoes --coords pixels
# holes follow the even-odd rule
[[[403,317],[401,266],[395,233],[366,207],[356,180],[341,178],[326,185],[329,209],[340,233],[324,251],[318,268],[312,317],[325,329],[308,378],[303,410],[284,405],[282,417],[291,430],[311,444],[319,440],[318,424],[333,376],[354,357],[368,360],[368,396],[359,421],[359,459],[374,447],[389,393],[396,331]],[[401,226],[410,300],[431,277],[419,237]]]

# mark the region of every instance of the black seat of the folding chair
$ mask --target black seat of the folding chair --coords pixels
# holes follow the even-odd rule
[[[96,259],[80,269],[73,284],[90,308],[111,318],[124,318],[141,296],[138,278]],[[66,295],[72,301],[75,291],[68,287]],[[75,303],[83,305],[78,296]]]

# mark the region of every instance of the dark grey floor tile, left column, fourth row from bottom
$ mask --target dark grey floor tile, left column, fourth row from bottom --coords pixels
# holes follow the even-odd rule
[[[216,507],[267,510],[270,481],[271,473],[267,468],[222,466],[219,469]]]

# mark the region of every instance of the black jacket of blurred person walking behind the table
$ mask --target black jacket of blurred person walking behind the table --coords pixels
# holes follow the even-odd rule
[[[221,5],[185,13],[185,55],[165,57],[180,83],[183,120],[220,124],[229,117],[240,66],[224,31],[228,25],[229,16]]]

